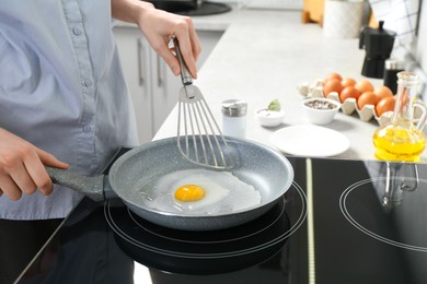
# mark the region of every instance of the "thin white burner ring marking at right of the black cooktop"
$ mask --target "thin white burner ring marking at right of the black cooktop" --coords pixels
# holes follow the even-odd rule
[[[361,187],[361,186],[363,186],[366,184],[371,184],[371,182],[374,182],[374,181],[386,181],[386,180],[388,180],[388,178],[385,178],[385,177],[373,177],[373,178],[368,178],[368,179],[360,180],[360,181],[349,186],[346,190],[344,190],[344,192],[339,197],[339,208],[341,208],[341,211],[343,212],[344,216],[348,220],[348,222],[350,222],[351,225],[354,225],[356,228],[358,228],[362,233],[367,234],[368,236],[371,236],[371,237],[373,237],[373,238],[376,238],[376,239],[378,239],[380,241],[383,241],[385,244],[389,244],[389,245],[392,245],[392,246],[395,246],[395,247],[409,249],[409,250],[414,250],[414,251],[427,252],[427,248],[425,248],[425,247],[403,244],[403,242],[400,242],[400,241],[392,240],[392,239],[389,239],[386,237],[380,236],[380,235],[369,230],[368,228],[366,228],[362,225],[360,225],[350,215],[350,213],[348,212],[348,209],[347,209],[346,204],[347,204],[348,196],[351,193],[353,190],[356,190],[357,188],[359,188],[359,187]],[[418,181],[427,182],[427,180],[425,180],[425,179],[418,179]]]

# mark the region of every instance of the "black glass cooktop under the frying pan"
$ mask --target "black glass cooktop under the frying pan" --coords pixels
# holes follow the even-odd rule
[[[131,283],[135,260],[153,283],[427,283],[427,165],[289,161],[280,202],[229,229],[163,228],[117,200],[83,200],[55,235],[53,264],[21,282]]]

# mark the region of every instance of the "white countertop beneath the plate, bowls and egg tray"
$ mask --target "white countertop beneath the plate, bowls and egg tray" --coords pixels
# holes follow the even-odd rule
[[[302,24],[298,11],[234,10],[228,15],[195,17],[194,23],[197,28],[227,28],[194,84],[201,90],[219,123],[223,99],[246,100],[250,140],[272,146],[270,137],[277,129],[309,123],[300,105],[299,84],[323,79],[331,72],[366,79],[360,74],[365,50],[358,48],[358,38],[325,37],[318,24]],[[382,85],[382,80],[369,80],[376,86]],[[281,102],[286,117],[277,128],[263,128],[255,110],[274,98]],[[175,107],[154,139],[176,135],[176,121]],[[378,128],[374,120],[363,122],[356,113],[353,116],[338,113],[325,127],[350,140],[350,149],[337,158],[374,159],[372,134]]]

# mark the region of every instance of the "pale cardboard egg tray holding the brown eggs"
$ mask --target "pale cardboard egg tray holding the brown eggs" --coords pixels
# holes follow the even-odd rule
[[[323,93],[322,81],[315,81],[312,84],[302,83],[298,86],[298,91],[302,96],[305,97],[325,97]],[[331,92],[327,98],[341,103],[339,95],[337,92]],[[360,120],[362,121],[376,120],[380,126],[388,125],[393,118],[393,111],[385,111],[384,114],[381,115],[381,117],[378,117],[374,105],[365,105],[362,109],[359,109],[357,106],[356,98],[354,97],[349,97],[342,103],[341,111],[347,116],[350,116],[356,111]]]

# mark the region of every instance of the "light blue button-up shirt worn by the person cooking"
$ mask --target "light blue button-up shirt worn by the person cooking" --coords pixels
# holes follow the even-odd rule
[[[92,175],[138,144],[134,117],[109,1],[0,2],[1,128]],[[65,217],[80,199],[59,187],[15,202],[3,194],[0,218]]]

